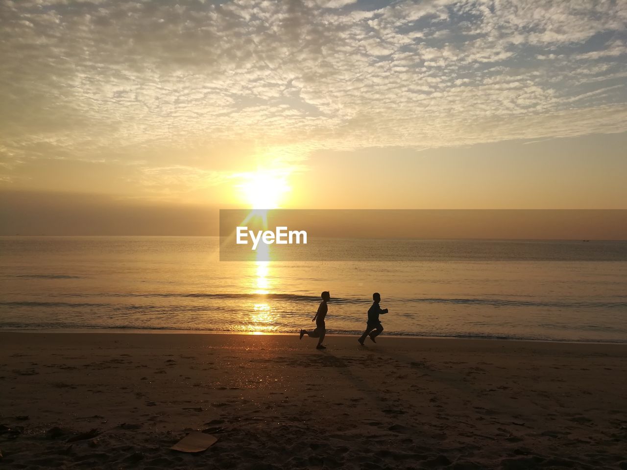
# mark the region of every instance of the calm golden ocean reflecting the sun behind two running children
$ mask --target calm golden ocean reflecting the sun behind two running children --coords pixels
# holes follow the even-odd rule
[[[627,242],[399,246],[416,244],[419,259],[244,262],[219,261],[218,237],[3,237],[0,329],[296,333],[328,290],[327,330],[357,334],[377,291],[384,335],[627,343],[627,261],[605,260]]]

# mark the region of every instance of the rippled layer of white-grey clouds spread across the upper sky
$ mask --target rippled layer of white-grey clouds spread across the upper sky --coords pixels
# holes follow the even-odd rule
[[[300,165],[627,130],[624,0],[4,0],[0,18],[14,162],[135,158],[182,184],[213,180],[191,149],[228,141]]]

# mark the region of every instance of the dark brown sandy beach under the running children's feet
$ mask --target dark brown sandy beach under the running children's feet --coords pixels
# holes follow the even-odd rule
[[[0,333],[0,467],[627,468],[627,345],[315,343]]]

